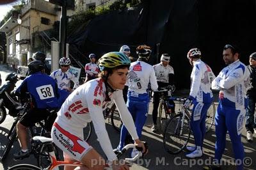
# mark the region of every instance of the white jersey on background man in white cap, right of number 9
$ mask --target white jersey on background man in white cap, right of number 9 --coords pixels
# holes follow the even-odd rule
[[[169,82],[169,74],[173,73],[173,68],[170,65],[164,66],[163,64],[159,63],[153,66],[154,71],[156,73],[156,79],[159,82]]]

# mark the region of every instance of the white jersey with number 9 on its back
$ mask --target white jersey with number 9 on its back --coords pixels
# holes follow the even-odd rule
[[[144,61],[132,62],[126,82],[126,85],[129,86],[128,90],[138,94],[147,93],[149,83],[151,89],[157,91],[158,85],[153,66]]]

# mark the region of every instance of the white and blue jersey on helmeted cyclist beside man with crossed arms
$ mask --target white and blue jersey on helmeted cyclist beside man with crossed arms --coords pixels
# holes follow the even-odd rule
[[[213,97],[211,82],[215,79],[215,75],[210,66],[205,64],[201,59],[198,59],[194,63],[190,79],[189,96],[195,98],[198,102],[211,103]]]

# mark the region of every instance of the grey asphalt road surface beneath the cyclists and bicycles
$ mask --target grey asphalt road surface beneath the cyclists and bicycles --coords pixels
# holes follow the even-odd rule
[[[6,71],[5,71],[6,72]],[[1,70],[1,74],[4,72]],[[182,91],[183,93],[178,93],[178,95],[184,95],[186,96],[186,91]],[[144,157],[138,160],[136,164],[139,164],[143,166],[144,168],[138,168],[138,169],[202,169],[202,167],[205,166],[205,164],[209,164],[211,162],[212,158],[214,157],[214,143],[216,140],[216,136],[214,134],[214,126],[212,129],[205,135],[204,140],[204,155],[202,158],[198,159],[188,159],[184,155],[185,153],[179,153],[178,155],[170,155],[164,150],[163,146],[163,139],[160,132],[157,132],[156,134],[151,131],[151,125],[152,125],[152,104],[150,104],[149,114],[147,118],[147,122],[145,123],[145,127],[143,128],[143,136],[142,140],[147,141],[149,144],[149,152]],[[7,116],[4,123],[0,125],[0,155],[3,153],[4,146],[6,144],[6,134],[9,132],[9,128],[12,125],[13,118],[10,116]],[[113,127],[111,127],[111,123],[106,120],[106,128],[108,130],[109,137],[111,139],[111,143],[113,148],[116,148],[119,142],[120,134],[118,134]],[[254,137],[256,137],[256,134],[254,134]],[[244,167],[244,169],[256,169],[256,139],[254,143],[247,143],[246,142],[246,130],[243,129],[243,137],[242,141],[244,144],[244,151],[246,154],[246,160],[248,162],[248,166]],[[90,137],[88,143],[90,143],[93,148],[96,148],[97,151],[100,153],[103,152],[100,148],[99,142],[97,141],[97,137],[95,135],[95,132],[92,132],[92,136]],[[191,137],[189,143],[193,143],[193,136]],[[13,153],[20,150],[19,144],[15,142],[12,150],[10,151],[8,158],[6,158],[6,161],[0,162],[0,169],[8,169],[8,167],[11,167],[15,164],[20,163],[29,163],[29,164],[36,164],[35,158],[33,158],[33,155],[31,155],[29,158],[24,158],[24,160],[13,160]],[[235,166],[232,166],[232,162],[234,155],[232,151],[232,143],[230,142],[230,138],[227,135],[227,143],[226,143],[226,149],[225,153],[223,154],[223,162],[226,164],[226,166],[223,166],[223,169],[236,169]],[[231,162],[231,163],[230,163]]]

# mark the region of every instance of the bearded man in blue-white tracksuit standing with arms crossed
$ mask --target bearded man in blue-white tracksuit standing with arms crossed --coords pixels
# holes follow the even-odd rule
[[[234,45],[225,45],[223,60],[226,66],[212,82],[212,89],[220,90],[219,105],[215,116],[215,160],[220,164],[225,150],[226,134],[230,135],[237,169],[243,169],[244,148],[241,132],[247,105],[246,91],[250,88],[250,72],[239,61],[239,50]],[[212,167],[220,169],[220,167]]]

